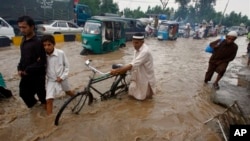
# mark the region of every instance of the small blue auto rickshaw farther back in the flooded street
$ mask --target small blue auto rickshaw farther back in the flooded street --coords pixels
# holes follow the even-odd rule
[[[178,37],[179,23],[175,21],[164,21],[158,26],[158,40],[176,40]]]

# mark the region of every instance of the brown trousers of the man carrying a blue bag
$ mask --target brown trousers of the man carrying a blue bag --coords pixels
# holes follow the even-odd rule
[[[205,81],[210,81],[213,77],[214,72],[217,72],[220,76],[223,76],[224,73],[226,72],[228,63],[221,63],[221,64],[216,64],[215,63],[209,63],[208,69],[205,75]]]

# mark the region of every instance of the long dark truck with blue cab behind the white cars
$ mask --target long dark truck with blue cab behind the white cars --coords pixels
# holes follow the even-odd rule
[[[73,21],[84,26],[91,11],[88,5],[79,0],[6,0],[0,4],[0,17],[5,19],[18,34],[17,19],[20,16],[31,16],[36,24],[49,20]]]

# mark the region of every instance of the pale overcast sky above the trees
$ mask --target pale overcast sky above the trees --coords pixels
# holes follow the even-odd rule
[[[178,4],[174,1],[175,0],[169,0],[167,7],[177,9]],[[113,2],[118,3],[120,10],[123,10],[124,8],[136,9],[140,6],[143,11],[146,11],[149,5],[151,7],[161,5],[160,0],[113,0]],[[217,0],[215,10],[217,12],[223,12],[227,2],[228,0]],[[241,12],[242,15],[247,15],[250,19],[250,0],[229,0],[225,13],[229,14],[231,11],[235,11],[235,13]]]

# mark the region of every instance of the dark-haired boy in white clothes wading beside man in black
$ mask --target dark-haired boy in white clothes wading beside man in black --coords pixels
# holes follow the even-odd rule
[[[61,90],[73,96],[68,84],[69,62],[64,52],[55,48],[55,39],[52,35],[44,35],[42,44],[47,55],[47,86],[46,86],[46,111],[52,114],[53,100]]]

